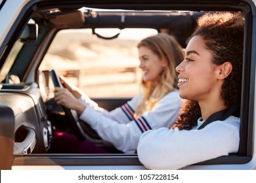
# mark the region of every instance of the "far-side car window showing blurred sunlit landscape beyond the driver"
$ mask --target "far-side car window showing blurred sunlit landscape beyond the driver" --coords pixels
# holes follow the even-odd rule
[[[139,92],[137,44],[155,29],[62,30],[53,40],[40,70],[56,69],[89,97],[133,97]]]

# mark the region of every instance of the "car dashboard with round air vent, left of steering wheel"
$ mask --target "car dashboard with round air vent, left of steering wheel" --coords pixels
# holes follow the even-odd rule
[[[37,84],[3,84],[0,103],[14,112],[14,154],[47,152],[53,134]]]

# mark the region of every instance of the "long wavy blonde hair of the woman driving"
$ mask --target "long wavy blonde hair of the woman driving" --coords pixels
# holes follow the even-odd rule
[[[163,59],[167,64],[161,72],[158,84],[142,80],[143,97],[135,110],[135,118],[139,118],[144,112],[152,110],[161,98],[177,88],[178,73],[175,68],[184,59],[184,52],[179,42],[173,36],[165,33],[142,39],[137,47],[140,48],[141,46],[152,50],[158,58]]]

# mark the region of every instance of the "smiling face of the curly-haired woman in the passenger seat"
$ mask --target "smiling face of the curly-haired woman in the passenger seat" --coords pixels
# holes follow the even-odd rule
[[[179,73],[180,96],[183,99],[200,101],[215,95],[217,83],[216,65],[211,62],[211,52],[199,35],[190,39],[185,50],[185,58],[176,67]]]

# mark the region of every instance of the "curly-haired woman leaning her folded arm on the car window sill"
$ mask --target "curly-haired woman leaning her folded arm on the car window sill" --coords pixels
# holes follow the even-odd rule
[[[176,68],[180,96],[186,99],[181,114],[171,129],[142,134],[137,152],[145,167],[181,169],[238,152],[243,36],[240,12],[199,18]]]

